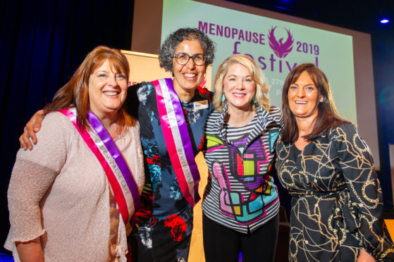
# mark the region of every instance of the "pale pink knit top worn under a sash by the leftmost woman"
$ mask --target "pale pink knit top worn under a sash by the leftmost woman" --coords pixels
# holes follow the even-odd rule
[[[8,188],[8,240],[40,237],[45,261],[125,261],[126,227],[111,187],[73,123],[59,112],[49,113],[37,139],[32,151],[20,149],[16,157]],[[139,125],[125,127],[114,142],[141,193]]]

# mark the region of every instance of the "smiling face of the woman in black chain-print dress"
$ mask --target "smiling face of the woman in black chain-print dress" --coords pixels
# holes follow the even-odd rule
[[[309,118],[314,120],[318,114],[319,101],[323,101],[319,90],[314,85],[307,71],[290,85],[288,89],[289,106],[295,118]]]

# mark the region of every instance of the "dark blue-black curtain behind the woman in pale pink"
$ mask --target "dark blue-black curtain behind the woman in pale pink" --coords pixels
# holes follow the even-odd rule
[[[18,137],[86,54],[104,44],[130,50],[134,1],[0,1],[0,251],[8,233],[6,192]]]

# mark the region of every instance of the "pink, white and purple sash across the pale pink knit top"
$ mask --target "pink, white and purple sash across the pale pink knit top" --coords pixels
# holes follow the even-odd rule
[[[82,139],[85,140],[87,146],[101,163],[111,185],[123,222],[126,225],[135,211],[140,208],[141,199],[137,183],[121,151],[93,113],[87,113],[87,120],[92,127],[92,130],[88,131],[83,125],[78,125],[75,108],[62,109],[59,112],[70,119]]]

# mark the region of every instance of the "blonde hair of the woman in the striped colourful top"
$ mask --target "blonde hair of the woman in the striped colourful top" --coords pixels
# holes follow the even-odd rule
[[[219,66],[214,81],[213,104],[215,110],[219,113],[223,112],[224,101],[222,101],[221,99],[221,97],[223,96],[223,80],[224,77],[226,77],[228,68],[235,63],[239,63],[240,65],[245,66],[245,68],[249,70],[250,76],[256,83],[256,103],[252,104],[252,109],[256,111],[255,104],[259,104],[259,106],[264,108],[265,111],[269,111],[269,108],[271,107],[269,99],[269,85],[266,84],[263,72],[261,71],[259,66],[257,66],[257,63],[249,56],[243,54],[234,54],[233,56],[226,58],[226,60],[223,61],[221,66]]]

